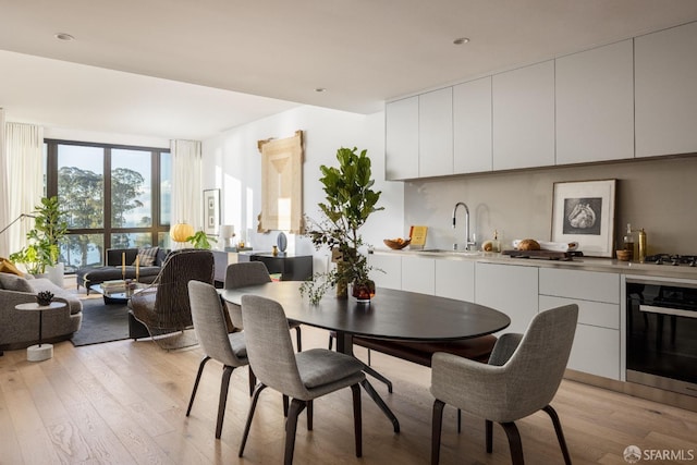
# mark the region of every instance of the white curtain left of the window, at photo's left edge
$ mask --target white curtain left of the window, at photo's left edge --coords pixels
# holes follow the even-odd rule
[[[8,223],[22,213],[30,213],[44,196],[44,129],[33,124],[7,123],[5,129],[5,181]],[[4,227],[3,223],[2,227]],[[7,257],[26,245],[26,233],[34,228],[34,220],[23,218],[3,236]],[[2,243],[0,243],[2,245]]]

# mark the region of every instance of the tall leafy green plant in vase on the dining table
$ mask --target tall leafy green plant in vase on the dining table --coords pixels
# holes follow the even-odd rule
[[[301,292],[307,293],[313,303],[319,302],[325,293],[337,287],[337,295],[345,297],[348,284],[353,284],[354,295],[366,298],[360,290],[372,290],[375,284],[370,280],[371,267],[368,266],[366,255],[359,248],[365,245],[358,230],[368,217],[382,207],[376,207],[381,192],[372,189],[375,181],[370,178],[370,159],[367,150],[359,154],[353,149],[337,150],[339,167],[321,166],[320,182],[323,185],[326,201],[318,204],[323,219],[319,222],[306,219],[307,235],[317,249],[328,247],[332,252],[332,260],[337,267],[322,273],[316,273],[313,281],[301,286]],[[369,292],[368,292],[369,294]]]

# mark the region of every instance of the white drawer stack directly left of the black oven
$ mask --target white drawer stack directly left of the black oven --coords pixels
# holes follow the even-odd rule
[[[567,367],[620,380],[620,276],[540,268],[540,310],[578,305],[578,325]]]

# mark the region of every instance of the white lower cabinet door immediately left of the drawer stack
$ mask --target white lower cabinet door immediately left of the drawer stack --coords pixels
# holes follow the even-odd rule
[[[511,326],[502,332],[524,333],[538,311],[538,269],[477,262],[475,302],[511,318]]]

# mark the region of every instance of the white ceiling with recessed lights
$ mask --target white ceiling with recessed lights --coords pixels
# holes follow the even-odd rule
[[[201,139],[298,103],[379,111],[696,21],[697,1],[0,0],[0,12],[9,121]]]

